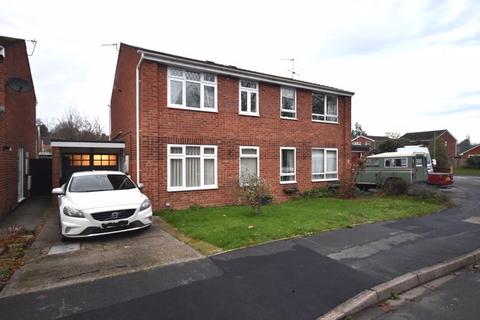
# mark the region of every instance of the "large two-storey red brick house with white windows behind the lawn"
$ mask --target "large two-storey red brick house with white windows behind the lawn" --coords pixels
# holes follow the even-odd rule
[[[121,44],[111,137],[155,209],[233,203],[247,174],[281,201],[349,174],[352,95]]]

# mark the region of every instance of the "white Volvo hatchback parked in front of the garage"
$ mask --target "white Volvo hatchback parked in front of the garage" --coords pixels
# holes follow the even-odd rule
[[[152,225],[150,200],[119,171],[76,172],[58,195],[62,240],[118,233]]]

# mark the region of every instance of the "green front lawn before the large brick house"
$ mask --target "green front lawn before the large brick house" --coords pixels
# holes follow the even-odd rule
[[[195,207],[156,214],[180,232],[228,250],[356,224],[425,215],[444,207],[438,201],[410,197],[318,198],[265,206],[259,215],[247,206]]]

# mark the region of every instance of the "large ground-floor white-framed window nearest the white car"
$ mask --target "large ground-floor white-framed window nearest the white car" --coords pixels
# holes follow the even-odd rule
[[[217,146],[167,145],[167,191],[217,188]]]

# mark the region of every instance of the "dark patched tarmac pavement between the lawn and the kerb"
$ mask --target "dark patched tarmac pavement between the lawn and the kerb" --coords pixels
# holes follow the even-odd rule
[[[277,241],[0,300],[5,319],[312,319],[363,289],[480,248],[480,178],[426,217]],[[470,219],[469,221],[475,221]]]

